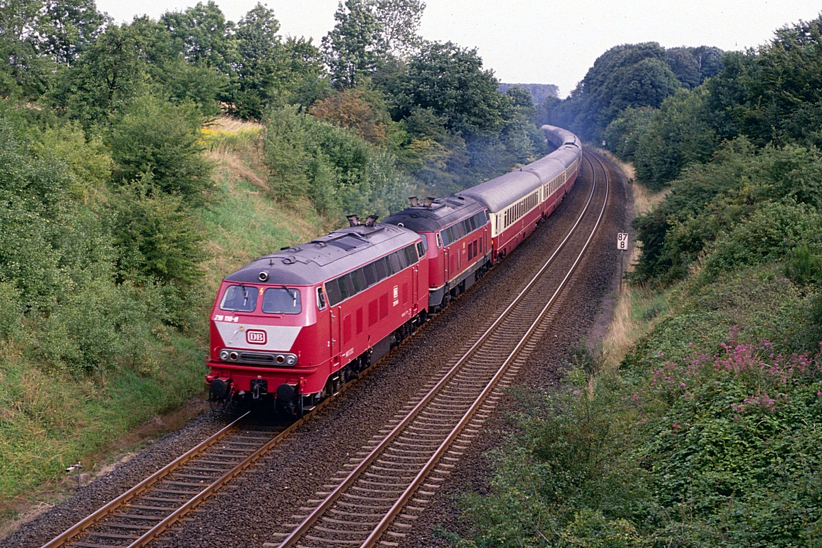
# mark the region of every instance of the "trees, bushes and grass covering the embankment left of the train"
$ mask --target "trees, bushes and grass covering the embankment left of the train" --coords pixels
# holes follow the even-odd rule
[[[529,90],[423,40],[423,9],[346,0],[315,44],[262,4],[0,2],[4,516],[201,395],[224,275],[547,152]]]

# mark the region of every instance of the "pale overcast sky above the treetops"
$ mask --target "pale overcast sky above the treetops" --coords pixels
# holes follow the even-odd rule
[[[256,0],[216,0],[238,21]],[[283,35],[315,44],[334,26],[337,0],[269,0]],[[157,18],[196,0],[98,0],[115,21]],[[822,3],[806,0],[427,0],[421,34],[477,48],[503,82],[556,84],[561,97],[607,48],[655,41],[666,48],[711,45],[744,49],[767,42],[779,27],[809,21]]]

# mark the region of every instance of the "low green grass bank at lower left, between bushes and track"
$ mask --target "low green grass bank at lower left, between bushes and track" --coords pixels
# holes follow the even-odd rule
[[[122,367],[76,378],[25,359],[19,347],[3,350],[0,512],[6,515],[21,496],[37,499],[57,489],[70,463],[98,472],[118,438],[201,393],[205,373],[202,349],[179,335],[155,348],[164,357],[156,375]]]

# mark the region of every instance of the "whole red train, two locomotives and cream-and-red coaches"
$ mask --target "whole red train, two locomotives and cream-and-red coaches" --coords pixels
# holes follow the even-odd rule
[[[556,210],[582,145],[543,126],[556,150],[489,181],[261,256],[225,277],[210,317],[214,405],[274,403],[302,417],[442,311]]]

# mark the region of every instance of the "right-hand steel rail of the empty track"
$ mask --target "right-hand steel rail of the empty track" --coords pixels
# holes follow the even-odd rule
[[[594,157],[594,158],[596,158],[596,157]],[[593,173],[594,181],[596,181],[596,171],[593,169],[593,163],[591,162],[591,160],[589,158],[585,158],[585,159],[588,160],[589,164],[591,165],[591,171]],[[548,300],[548,302],[545,303],[545,306],[543,306],[543,310],[540,311],[539,315],[537,316],[537,319],[533,320],[533,323],[529,327],[528,331],[523,335],[523,337],[520,339],[520,342],[517,343],[514,350],[506,358],[506,361],[504,361],[502,363],[502,365],[500,366],[500,369],[498,371],[496,371],[496,374],[493,376],[492,380],[489,381],[489,383],[485,387],[485,389],[483,389],[483,392],[481,394],[479,394],[478,398],[474,401],[474,403],[471,405],[471,407],[468,409],[468,411],[465,412],[465,414],[459,420],[459,422],[454,427],[454,429],[446,437],[446,440],[444,440],[442,442],[442,444],[440,444],[440,446],[436,449],[436,452],[432,455],[432,457],[430,459],[428,459],[427,463],[418,472],[417,476],[414,477],[413,481],[408,486],[408,488],[406,488],[406,490],[404,490],[402,495],[399,495],[399,499],[397,500],[397,502],[395,502],[395,504],[388,510],[386,515],[381,519],[380,523],[378,523],[376,525],[376,527],[374,527],[373,532],[363,542],[363,544],[360,546],[360,548],[372,548],[372,546],[375,546],[377,541],[380,540],[380,537],[386,532],[388,527],[390,527],[390,524],[394,521],[396,516],[402,511],[405,504],[408,504],[408,501],[411,499],[413,494],[423,484],[423,481],[426,480],[427,476],[431,473],[432,469],[436,466],[436,463],[439,462],[442,455],[446,453],[446,451],[450,447],[450,444],[455,440],[455,438],[463,430],[464,426],[469,423],[469,421],[471,420],[473,415],[477,412],[477,409],[480,407],[480,405],[483,404],[483,402],[485,401],[485,398],[487,398],[487,395],[491,394],[492,390],[496,387],[496,384],[502,378],[502,375],[504,375],[506,373],[506,370],[508,369],[508,366],[510,366],[510,363],[512,361],[514,361],[515,357],[520,353],[520,350],[522,349],[524,344],[529,340],[529,338],[533,334],[533,331],[537,329],[539,323],[543,320],[543,318],[547,314],[547,311],[554,304],[554,302],[556,301],[556,297],[559,297],[560,292],[565,288],[566,283],[568,283],[568,280],[570,279],[571,274],[574,274],[574,271],[575,271],[577,265],[580,264],[580,260],[582,260],[585,251],[588,250],[588,247],[591,243],[591,240],[593,240],[593,236],[597,233],[597,229],[599,228],[599,224],[603,220],[603,215],[605,214],[605,208],[606,208],[606,205],[607,205],[610,182],[608,180],[607,170],[605,169],[605,166],[603,165],[602,162],[599,161],[599,159],[597,159],[597,162],[603,168],[603,173],[605,173],[605,199],[603,200],[603,208],[602,208],[602,210],[599,211],[599,216],[597,218],[597,222],[594,224],[593,229],[591,230],[591,233],[589,234],[588,239],[585,241],[585,244],[582,247],[582,249],[580,250],[579,255],[576,257],[576,260],[574,261],[574,264],[570,266],[570,269],[568,269],[568,272],[566,273],[565,278],[562,279],[561,283],[559,284],[559,287],[556,288],[556,291],[553,293],[551,298]],[[594,186],[595,185],[596,185],[596,183],[594,183]]]

